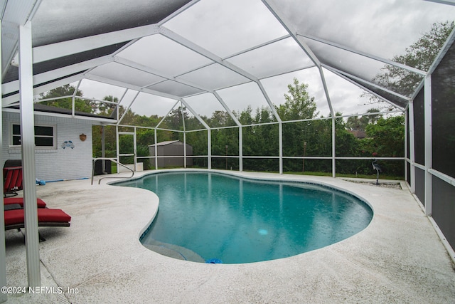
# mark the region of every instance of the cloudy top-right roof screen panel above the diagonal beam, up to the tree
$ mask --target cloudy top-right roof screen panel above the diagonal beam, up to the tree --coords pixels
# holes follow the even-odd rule
[[[387,59],[401,55],[433,23],[455,16],[454,6],[431,1],[268,1],[279,7],[299,35]]]

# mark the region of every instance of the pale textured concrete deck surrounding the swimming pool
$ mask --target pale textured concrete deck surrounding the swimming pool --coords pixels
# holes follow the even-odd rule
[[[106,184],[114,179],[98,185],[98,177],[93,185],[90,179],[48,183],[37,187],[37,196],[72,220],[69,228],[39,229],[46,239],[39,244],[41,285],[63,293],[11,294],[6,303],[455,303],[454,264],[409,189],[240,175],[346,189],[368,201],[373,221],[349,239],[291,258],[195,263],[139,242],[158,206],[153,193]],[[23,235],[15,230],[6,231],[6,276],[9,286],[27,285]]]

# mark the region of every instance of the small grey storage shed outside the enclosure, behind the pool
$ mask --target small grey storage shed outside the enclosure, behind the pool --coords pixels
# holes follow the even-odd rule
[[[155,145],[149,145],[150,156],[155,156]],[[158,155],[158,167],[184,167],[185,166],[185,144],[180,140],[159,142],[156,144],[156,154]],[[174,157],[175,156],[175,157]],[[186,166],[193,166],[193,147],[186,144]],[[156,158],[150,159],[151,167],[155,166]]]

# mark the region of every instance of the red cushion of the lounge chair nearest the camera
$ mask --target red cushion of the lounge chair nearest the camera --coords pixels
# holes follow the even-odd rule
[[[38,226],[69,227],[71,216],[61,209],[38,208]],[[5,230],[24,228],[23,209],[5,210]],[[40,236],[42,241],[45,239]]]

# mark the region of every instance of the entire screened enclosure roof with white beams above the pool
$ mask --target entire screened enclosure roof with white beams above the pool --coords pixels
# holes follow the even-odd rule
[[[4,107],[18,103],[18,28],[30,21],[35,95],[74,84],[90,98],[116,95],[139,114],[183,105],[196,117],[273,109],[294,78],[325,117],[404,110],[430,67],[397,57],[434,23],[455,19],[452,0],[0,4]],[[453,40],[452,32],[446,44]],[[407,85],[385,81],[390,70]]]

